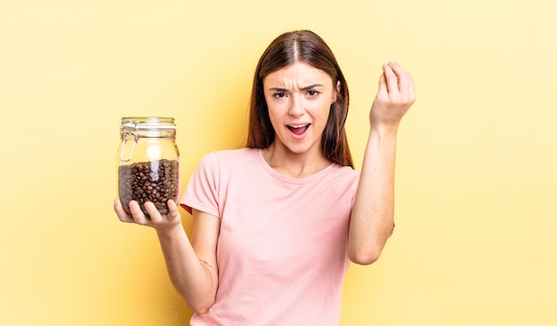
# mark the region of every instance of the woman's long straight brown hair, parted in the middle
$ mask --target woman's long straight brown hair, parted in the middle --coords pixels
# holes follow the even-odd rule
[[[246,147],[266,148],[274,141],[275,131],[270,123],[269,108],[263,93],[263,79],[295,62],[303,62],[326,72],[333,80],[335,91],[336,84],[340,82],[340,90],[337,91],[335,103],[331,104],[323,131],[322,147],[327,159],[353,168],[344,131],[348,115],[348,85],[331,49],[310,30],[284,33],[275,38],[263,52],[254,74]]]

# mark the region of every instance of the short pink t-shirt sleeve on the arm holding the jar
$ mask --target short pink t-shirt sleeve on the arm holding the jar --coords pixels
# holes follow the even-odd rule
[[[191,214],[191,209],[219,217],[219,160],[215,153],[204,156],[191,175],[180,206]]]

